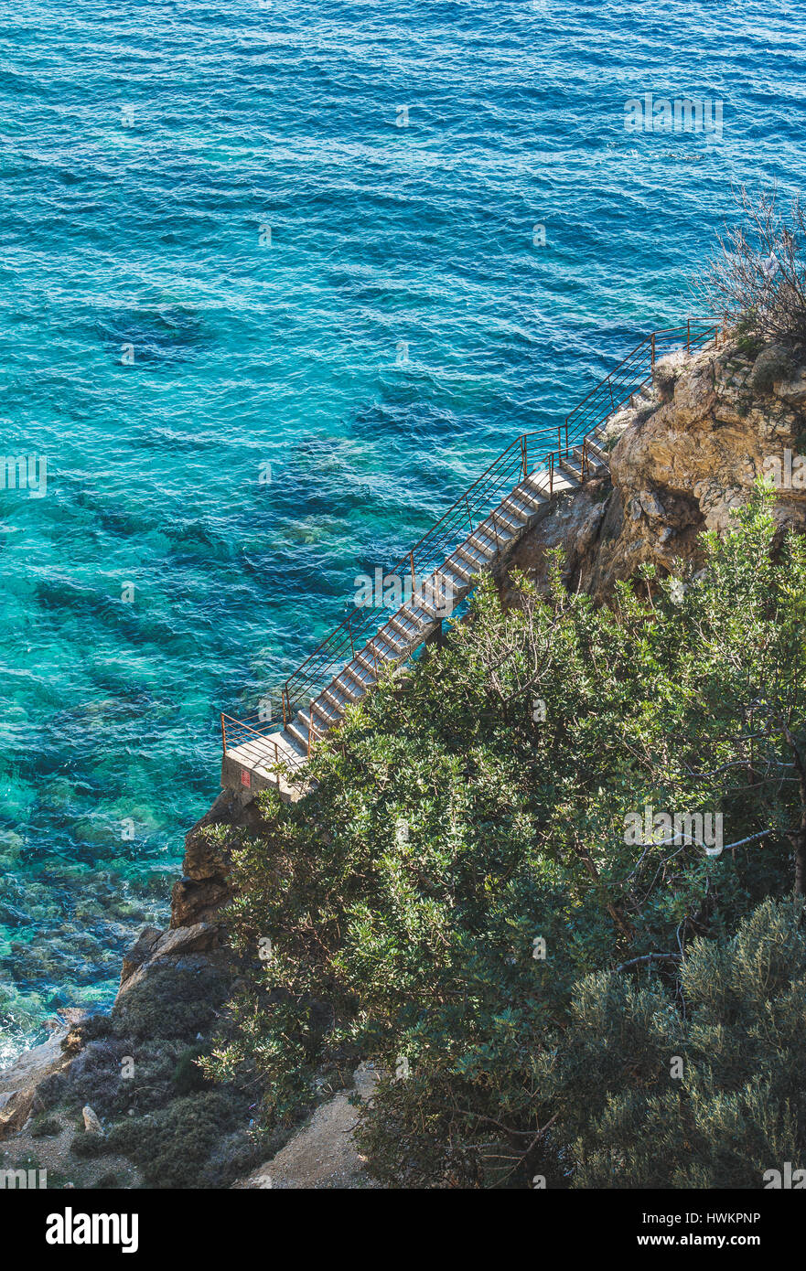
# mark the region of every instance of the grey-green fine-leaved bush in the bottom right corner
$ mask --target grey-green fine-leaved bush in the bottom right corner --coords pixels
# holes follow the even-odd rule
[[[732,939],[694,941],[679,1000],[655,976],[575,990],[539,1074],[575,1187],[760,1187],[806,1159],[802,918],[768,900]]]

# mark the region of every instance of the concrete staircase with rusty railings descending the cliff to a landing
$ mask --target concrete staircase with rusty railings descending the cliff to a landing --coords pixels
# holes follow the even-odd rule
[[[406,662],[434,637],[479,574],[549,515],[558,497],[608,472],[605,426],[627,403],[646,395],[656,358],[712,343],[718,347],[720,332],[708,320],[688,319],[685,325],[655,330],[566,416],[564,430],[557,430],[556,451],[530,464],[529,452],[534,456],[535,446],[545,444],[544,435],[517,437],[395,566],[393,577],[399,581],[411,564],[414,582],[418,564],[425,574],[420,590],[412,588],[411,599],[379,628],[371,611],[365,616],[356,610],[286,680],[281,728],[259,718],[221,716],[222,787],[242,791],[244,797],[270,787],[285,799],[305,793],[306,778],[299,770],[310,747],[338,727],[346,709],[361,702],[384,671]],[[441,604],[445,595],[450,606]]]

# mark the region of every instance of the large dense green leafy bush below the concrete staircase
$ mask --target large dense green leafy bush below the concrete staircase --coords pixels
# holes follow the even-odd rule
[[[234,852],[233,942],[253,970],[208,1070],[254,1065],[266,1125],[299,1113],[323,1065],[371,1057],[386,1075],[364,1144],[381,1179],[598,1186],[611,1126],[617,1166],[634,1154],[647,1169],[676,1132],[652,1103],[681,1099],[659,1075],[674,1042],[690,1057],[680,1089],[706,1102],[698,1154],[670,1157],[665,1185],[686,1186],[685,1169],[734,1177],[708,1155],[722,1122],[693,1032],[697,967],[806,880],[806,554],[795,538],[773,550],[768,497],[707,540],[699,574],[650,571],[609,608],[568,595],[559,568],[548,601],[521,580],[506,613],[479,588],[444,649],[318,747],[305,799],[263,796],[264,834],[210,831]],[[720,813],[723,850],[652,813],[631,836],[647,807]],[[758,993],[745,1008],[753,1024]],[[568,1092],[587,1018],[613,1054],[599,1078],[585,1059],[599,1099],[578,1104],[580,1124]],[[718,1009],[702,1018],[721,1027]],[[774,1057],[745,1054],[755,1169],[791,1125],[763,1124],[750,1093]],[[727,1118],[731,1079],[716,1070],[711,1099]]]

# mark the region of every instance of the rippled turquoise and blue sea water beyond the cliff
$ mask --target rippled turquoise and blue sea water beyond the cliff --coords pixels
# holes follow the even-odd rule
[[[8,1057],[108,1002],[164,920],[219,709],[253,709],[357,573],[685,318],[731,184],[802,186],[806,17],[0,14],[0,452],[47,459],[44,497],[0,489]],[[722,136],[625,132],[647,92],[721,99]]]

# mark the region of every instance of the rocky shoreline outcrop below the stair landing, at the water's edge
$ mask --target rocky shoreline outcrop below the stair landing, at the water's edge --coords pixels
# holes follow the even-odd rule
[[[210,1043],[236,975],[217,923],[220,907],[231,897],[231,887],[228,862],[205,834],[215,825],[257,829],[259,813],[254,803],[244,806],[231,792],[222,793],[186,836],[183,877],[173,888],[170,927],[167,930],[144,928],[125,956],[111,1014],[61,1012],[48,1040],[0,1073],[0,1140],[5,1140],[5,1160],[14,1162],[15,1154],[24,1155],[31,1143],[39,1145],[37,1152],[42,1155],[44,1141],[50,1168],[75,1178],[76,1186],[88,1186],[89,1179],[103,1177],[100,1158],[89,1157],[85,1144],[104,1136],[95,1101],[103,1101],[108,1091],[117,1089],[117,1103],[121,1102],[120,1092],[126,1088],[120,1079],[122,1056],[130,1056],[137,1071],[147,1069],[147,1088],[151,1093],[158,1089],[163,1101],[159,1115],[170,1118],[173,1103],[182,1098],[182,1088],[174,1089],[173,1068],[183,1054],[195,1056],[197,1049],[201,1052]],[[144,1054],[147,1059],[141,1057]],[[187,1063],[192,1064],[192,1057]],[[94,1074],[100,1070],[106,1075],[98,1083]],[[189,1079],[193,1080],[192,1074]],[[136,1080],[131,1089],[132,1108],[125,1113],[126,1120],[121,1118],[121,1107],[114,1099],[102,1111],[104,1124],[108,1121],[112,1134],[118,1138],[121,1125],[130,1125],[132,1130],[137,1126],[136,1120],[128,1121],[137,1112]],[[92,1104],[81,1102],[86,1093],[93,1098]],[[79,1113],[84,1132],[76,1136]],[[46,1140],[37,1138],[43,1117],[46,1129],[52,1125],[48,1132],[55,1135]],[[144,1124],[144,1132],[149,1124]],[[192,1126],[188,1132],[192,1136]],[[244,1135],[244,1129],[236,1134],[235,1146],[242,1155]],[[76,1145],[83,1152],[79,1160]],[[136,1171],[132,1173],[131,1160],[112,1148],[104,1152],[104,1168],[116,1177],[139,1177]]]

